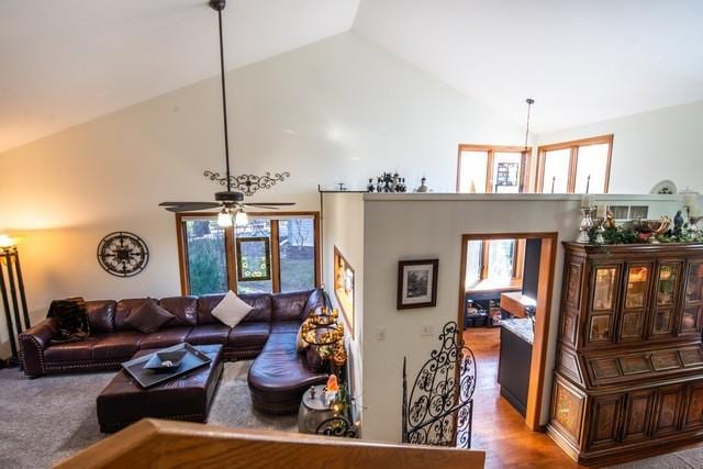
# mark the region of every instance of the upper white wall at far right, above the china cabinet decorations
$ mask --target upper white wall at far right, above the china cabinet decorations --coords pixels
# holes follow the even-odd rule
[[[703,192],[703,101],[536,136],[537,145],[614,134],[611,193],[648,193],[662,179]]]

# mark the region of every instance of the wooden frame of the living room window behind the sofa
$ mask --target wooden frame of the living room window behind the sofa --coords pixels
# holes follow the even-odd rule
[[[321,257],[320,257],[320,212],[247,212],[249,219],[269,219],[271,222],[270,237],[270,268],[271,268],[271,292],[280,293],[280,252],[278,238],[278,222],[280,217],[308,217],[313,220],[314,230],[314,266],[315,266],[315,288],[322,284]],[[188,243],[186,241],[186,230],[183,221],[188,219],[216,219],[217,212],[181,212],[176,213],[176,239],[178,244],[178,270],[180,276],[180,290],[182,295],[190,294],[190,279],[188,271]],[[275,241],[274,241],[275,239]],[[237,292],[237,243],[235,227],[224,228],[224,247],[227,264],[227,288]]]

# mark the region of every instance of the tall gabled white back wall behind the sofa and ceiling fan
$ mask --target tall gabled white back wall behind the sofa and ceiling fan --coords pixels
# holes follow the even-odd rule
[[[518,143],[506,123],[353,33],[227,75],[236,174],[289,170],[255,197],[317,210],[319,183],[364,186],[398,169],[411,186],[455,185],[459,142]],[[0,232],[20,245],[34,320],[52,299],[179,293],[174,216],[164,200],[210,200],[223,170],[217,78],[164,94],[0,155]],[[102,236],[132,231],[152,258],[131,279],[96,260]],[[2,338],[0,338],[2,340]]]

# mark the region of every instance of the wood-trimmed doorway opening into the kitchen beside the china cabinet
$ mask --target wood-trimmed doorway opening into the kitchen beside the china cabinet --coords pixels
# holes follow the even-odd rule
[[[464,326],[470,348],[476,342],[480,350],[475,351],[492,354],[493,361],[487,364],[499,368],[502,376],[498,381],[503,381],[493,384],[501,390],[500,399],[510,403],[510,407],[501,403],[502,409],[514,410],[515,420],[532,431],[540,429],[556,250],[557,233],[461,237],[458,324]],[[531,335],[532,344],[521,342],[516,328]],[[515,332],[517,336],[511,334]],[[483,378],[481,386],[491,383]]]

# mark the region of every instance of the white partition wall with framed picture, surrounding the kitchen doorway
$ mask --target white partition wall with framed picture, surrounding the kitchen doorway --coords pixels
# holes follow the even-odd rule
[[[596,197],[596,203],[650,204],[650,216],[673,215],[681,205],[674,196]],[[365,196],[364,263],[364,437],[400,442],[402,362],[408,358],[409,386],[439,342],[448,321],[457,321],[461,235],[467,233],[556,232],[549,346],[542,422],[548,418],[551,370],[563,263],[562,241],[578,234],[580,196],[556,194],[367,194]],[[395,309],[398,261],[438,258],[436,308]],[[539,317],[537,317],[539,321]],[[422,326],[434,328],[422,336]],[[387,339],[378,340],[380,327]],[[468,344],[470,347],[471,344]],[[475,394],[480,405],[480,391]]]

